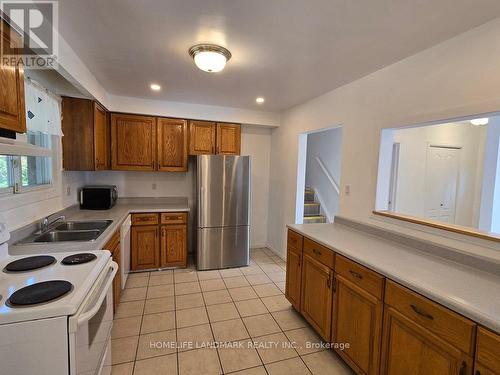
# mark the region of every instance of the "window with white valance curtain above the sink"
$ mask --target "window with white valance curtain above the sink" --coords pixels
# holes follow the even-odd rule
[[[59,98],[29,80],[25,84],[27,133],[0,139],[0,194],[52,186],[61,135]]]

